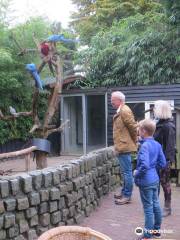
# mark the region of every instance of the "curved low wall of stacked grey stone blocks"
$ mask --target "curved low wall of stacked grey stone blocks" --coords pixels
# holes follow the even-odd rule
[[[120,182],[112,148],[21,175],[0,178],[0,240],[33,240],[50,228],[80,224]]]

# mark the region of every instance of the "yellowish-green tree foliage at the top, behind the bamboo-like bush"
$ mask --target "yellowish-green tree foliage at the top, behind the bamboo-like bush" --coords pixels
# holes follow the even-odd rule
[[[72,15],[72,26],[83,43],[89,44],[98,32],[106,31],[113,22],[145,14],[149,11],[162,11],[162,6],[153,0],[73,0],[77,12]]]

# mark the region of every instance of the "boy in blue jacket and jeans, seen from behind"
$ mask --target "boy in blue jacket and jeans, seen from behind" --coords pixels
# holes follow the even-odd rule
[[[155,129],[156,124],[150,119],[139,122],[138,130],[141,140],[134,180],[139,187],[145,216],[144,234],[141,239],[160,236],[162,221],[157,170],[166,166],[166,159],[161,145],[152,137]]]

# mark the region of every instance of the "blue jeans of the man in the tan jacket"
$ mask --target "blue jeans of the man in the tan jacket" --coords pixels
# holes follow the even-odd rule
[[[119,160],[120,171],[123,177],[123,188],[121,190],[121,194],[124,197],[131,197],[133,190],[131,154],[119,154],[117,157]]]

